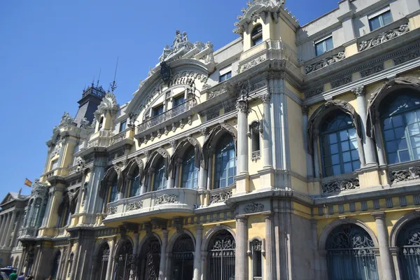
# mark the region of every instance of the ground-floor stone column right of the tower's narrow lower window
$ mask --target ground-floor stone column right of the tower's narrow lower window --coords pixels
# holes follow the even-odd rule
[[[276,279],[276,248],[274,244],[273,215],[265,216],[265,279]]]

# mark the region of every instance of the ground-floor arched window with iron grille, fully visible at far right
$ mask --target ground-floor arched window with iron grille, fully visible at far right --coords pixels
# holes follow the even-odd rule
[[[374,243],[363,228],[354,224],[339,225],[326,242],[328,279],[378,280]]]

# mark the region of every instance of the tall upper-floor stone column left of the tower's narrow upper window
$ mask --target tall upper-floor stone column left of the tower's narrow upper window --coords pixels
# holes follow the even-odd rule
[[[238,111],[238,144],[237,173],[248,174],[248,102],[245,97],[237,101]]]

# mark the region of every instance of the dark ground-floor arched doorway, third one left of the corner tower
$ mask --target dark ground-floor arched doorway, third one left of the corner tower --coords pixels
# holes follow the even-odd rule
[[[149,237],[141,248],[137,276],[142,280],[157,280],[160,267],[160,243],[156,237]]]

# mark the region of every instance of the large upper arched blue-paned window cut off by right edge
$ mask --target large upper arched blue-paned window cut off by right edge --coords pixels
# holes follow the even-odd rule
[[[381,104],[379,114],[388,163],[419,160],[420,98],[414,92],[392,94]]]

